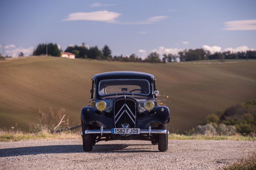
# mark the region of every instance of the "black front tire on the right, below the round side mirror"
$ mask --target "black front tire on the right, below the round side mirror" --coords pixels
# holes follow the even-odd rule
[[[165,152],[168,150],[168,123],[158,125],[158,129],[166,130],[166,134],[158,134],[158,150]]]

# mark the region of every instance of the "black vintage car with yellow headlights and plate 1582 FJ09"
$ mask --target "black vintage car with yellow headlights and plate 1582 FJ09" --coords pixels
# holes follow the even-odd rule
[[[168,149],[168,107],[157,104],[154,75],[115,71],[94,75],[91,105],[81,110],[84,151],[99,141],[144,140]]]

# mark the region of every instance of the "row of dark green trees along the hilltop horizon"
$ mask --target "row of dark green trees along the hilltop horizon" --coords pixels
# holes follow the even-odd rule
[[[33,55],[46,54],[46,47],[48,49],[49,56],[60,57],[62,50],[58,48],[57,43],[38,44],[37,48],[33,51]],[[138,57],[137,54],[131,54],[130,56],[112,56],[112,51],[105,45],[102,49],[98,46],[88,47],[85,43],[81,45],[74,45],[67,47],[64,52],[70,52],[75,54],[76,58],[91,58],[97,60],[109,60],[109,61],[124,61],[124,62],[150,62],[150,63],[167,63],[167,62],[180,62],[180,61],[196,61],[196,60],[221,60],[225,59],[256,59],[256,51],[248,50],[246,52],[215,52],[211,54],[210,51],[203,48],[198,49],[185,49],[176,54],[163,54],[160,59],[160,54],[157,52],[151,52],[143,60]]]

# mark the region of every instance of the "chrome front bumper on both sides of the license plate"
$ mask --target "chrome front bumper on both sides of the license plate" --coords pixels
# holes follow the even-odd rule
[[[101,129],[85,130],[84,134],[101,134],[102,136],[102,134],[111,134],[111,129],[103,129],[103,127],[101,126]],[[151,130],[151,127],[149,126],[148,129],[140,129],[140,134],[166,134],[166,130]],[[83,132],[81,132],[81,135],[83,135]]]

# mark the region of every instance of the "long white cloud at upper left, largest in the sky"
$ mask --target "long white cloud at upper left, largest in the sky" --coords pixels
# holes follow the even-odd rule
[[[78,20],[86,20],[86,21],[102,21],[107,23],[116,23],[116,18],[118,18],[121,14],[117,12],[109,12],[109,11],[95,11],[95,12],[75,12],[70,13],[68,18],[63,21],[78,21]]]

